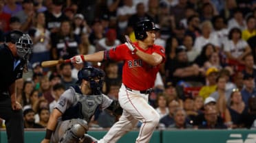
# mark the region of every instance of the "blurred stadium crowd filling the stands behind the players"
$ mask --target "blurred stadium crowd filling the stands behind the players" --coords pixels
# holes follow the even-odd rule
[[[136,40],[133,25],[142,19],[157,23],[155,44],[166,50],[149,94],[158,129],[256,129],[255,0],[0,0],[0,42],[17,29],[34,43],[29,71],[17,81],[25,128],[46,127],[85,65],[105,71],[103,93],[117,99],[122,62],[41,62],[109,50],[125,35]],[[109,129],[116,120],[98,109],[90,127]]]

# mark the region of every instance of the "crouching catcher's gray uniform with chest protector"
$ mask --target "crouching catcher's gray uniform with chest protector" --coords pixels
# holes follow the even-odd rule
[[[66,90],[61,95],[55,107],[63,116],[58,119],[56,129],[54,133],[52,133],[51,142],[68,142],[67,140],[69,139],[67,138],[72,135],[73,137],[79,133],[83,135],[88,130],[87,123],[89,123],[96,109],[98,107],[105,109],[109,107],[111,103],[112,100],[105,94],[82,94],[78,86]],[[82,128],[78,128],[76,125]],[[72,133],[67,133],[69,130],[71,130]]]

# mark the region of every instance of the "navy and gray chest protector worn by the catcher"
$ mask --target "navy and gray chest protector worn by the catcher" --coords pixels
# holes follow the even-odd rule
[[[65,111],[62,116],[63,120],[70,120],[72,118],[81,118],[90,121],[94,112],[103,101],[103,96],[100,95],[83,95],[76,92],[76,101],[74,106]]]

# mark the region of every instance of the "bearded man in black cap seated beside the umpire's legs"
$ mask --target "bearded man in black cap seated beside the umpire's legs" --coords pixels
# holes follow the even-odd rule
[[[24,128],[43,128],[43,126],[34,122],[34,110],[33,109],[25,109],[23,112],[24,118]]]

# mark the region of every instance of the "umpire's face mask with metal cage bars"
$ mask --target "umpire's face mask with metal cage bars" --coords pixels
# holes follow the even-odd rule
[[[19,40],[16,42],[17,55],[23,60],[28,60],[30,54],[32,53],[32,39],[28,34],[23,34]]]

